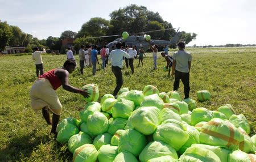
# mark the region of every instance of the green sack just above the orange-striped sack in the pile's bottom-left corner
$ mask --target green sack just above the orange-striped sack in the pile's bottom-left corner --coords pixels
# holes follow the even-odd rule
[[[73,154],[76,148],[79,148],[86,143],[92,143],[92,138],[88,134],[80,131],[79,134],[72,135],[72,137],[69,138],[68,150]]]

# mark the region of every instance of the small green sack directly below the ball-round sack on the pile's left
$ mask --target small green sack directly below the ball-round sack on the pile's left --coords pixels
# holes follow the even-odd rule
[[[93,145],[97,150],[101,148],[101,146],[110,144],[112,135],[109,133],[99,134],[93,140]]]

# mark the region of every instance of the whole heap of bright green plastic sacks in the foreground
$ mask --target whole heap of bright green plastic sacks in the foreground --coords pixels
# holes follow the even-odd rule
[[[210,99],[200,98],[208,91],[198,100],[182,100],[177,91],[147,85],[142,91],[122,88],[117,99],[105,94],[99,101],[94,92],[80,119],[64,118],[57,127],[57,141],[67,144],[73,161],[256,161],[256,135],[249,136],[243,114],[230,104],[216,110],[196,106]]]

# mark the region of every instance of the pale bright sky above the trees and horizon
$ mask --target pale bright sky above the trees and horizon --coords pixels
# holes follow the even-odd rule
[[[47,39],[66,30],[77,32],[90,18],[109,20],[112,11],[130,4],[146,6],[173,27],[197,33],[189,45],[256,44],[254,0],[0,0],[0,19],[38,39]]]

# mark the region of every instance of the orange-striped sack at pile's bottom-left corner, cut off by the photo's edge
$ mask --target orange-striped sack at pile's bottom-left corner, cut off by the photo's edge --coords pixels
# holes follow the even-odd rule
[[[73,154],[73,162],[95,162],[98,151],[93,144],[84,144],[77,148]]]

